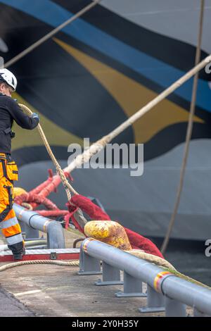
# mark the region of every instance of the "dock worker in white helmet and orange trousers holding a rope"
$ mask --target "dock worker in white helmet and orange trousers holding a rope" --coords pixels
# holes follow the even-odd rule
[[[39,115],[23,113],[11,97],[16,87],[15,75],[6,68],[0,69],[0,228],[14,259],[20,260],[25,254],[25,247],[13,210],[13,182],[18,180],[18,167],[11,157],[11,139],[15,137],[12,126],[15,121],[23,129],[32,130],[39,123]]]

